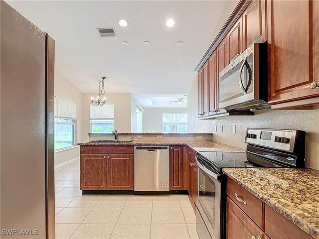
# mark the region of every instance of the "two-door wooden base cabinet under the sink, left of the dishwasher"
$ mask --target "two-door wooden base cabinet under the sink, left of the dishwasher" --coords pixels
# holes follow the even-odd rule
[[[134,190],[133,146],[81,146],[81,190]]]

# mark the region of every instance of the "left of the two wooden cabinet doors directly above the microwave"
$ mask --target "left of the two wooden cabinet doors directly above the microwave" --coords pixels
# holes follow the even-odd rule
[[[240,17],[234,26],[227,33],[228,62],[226,66],[243,51],[242,43],[242,18]]]

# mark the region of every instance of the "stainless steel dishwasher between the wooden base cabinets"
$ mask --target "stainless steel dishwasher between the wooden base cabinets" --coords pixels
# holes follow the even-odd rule
[[[169,191],[169,146],[134,147],[134,191]]]

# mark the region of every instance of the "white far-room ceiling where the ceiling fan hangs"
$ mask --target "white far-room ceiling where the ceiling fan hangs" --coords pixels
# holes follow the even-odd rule
[[[133,96],[144,108],[187,108],[187,96],[185,94],[133,94]],[[183,99],[182,104],[169,103],[170,101],[177,101],[177,98],[186,99]]]

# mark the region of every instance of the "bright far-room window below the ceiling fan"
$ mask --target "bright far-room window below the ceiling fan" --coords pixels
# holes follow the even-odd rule
[[[187,133],[187,114],[163,114],[164,133]]]

